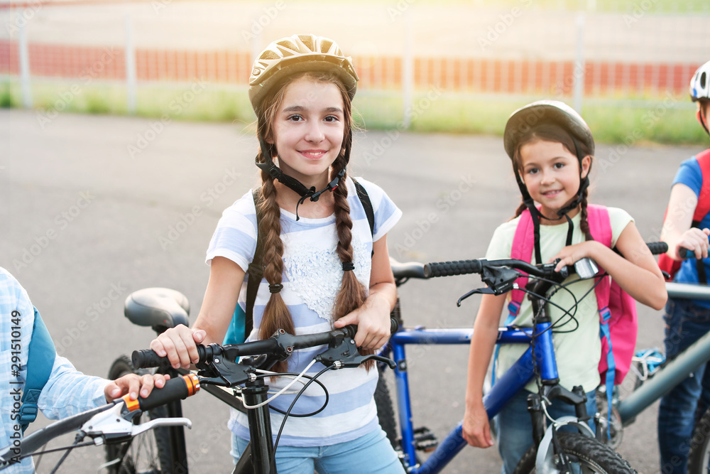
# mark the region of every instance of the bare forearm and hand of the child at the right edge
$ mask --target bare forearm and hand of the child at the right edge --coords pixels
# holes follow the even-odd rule
[[[695,252],[696,258],[708,256],[709,229],[690,227],[698,197],[687,185],[676,183],[670,191],[668,211],[661,230],[661,240],[668,244],[667,255],[680,260],[678,250],[683,247]]]

